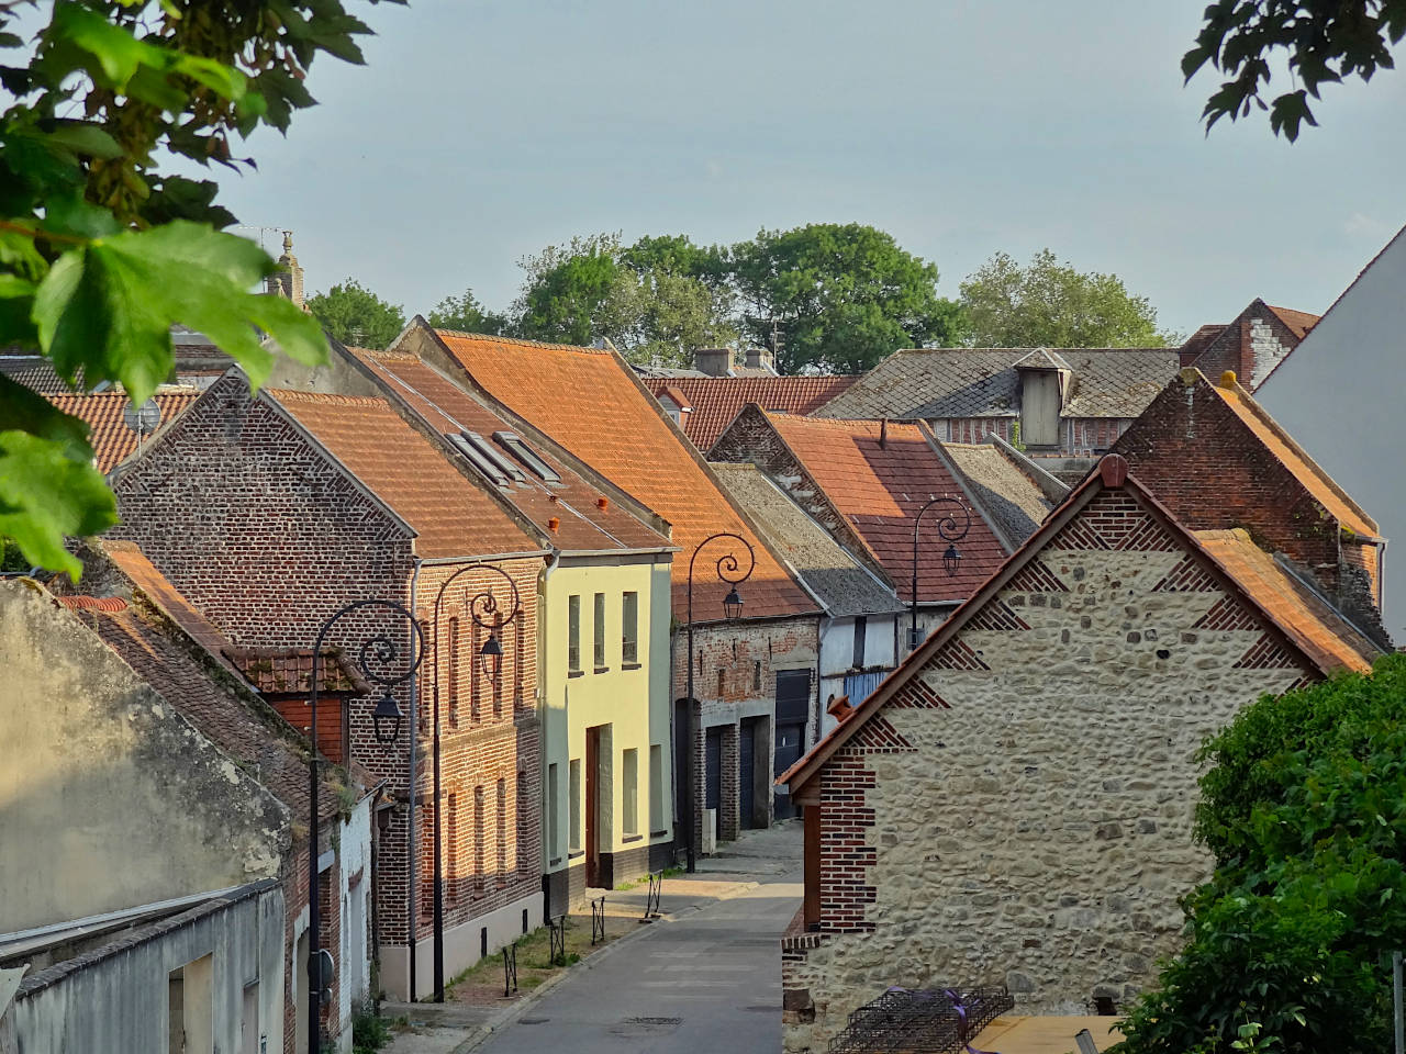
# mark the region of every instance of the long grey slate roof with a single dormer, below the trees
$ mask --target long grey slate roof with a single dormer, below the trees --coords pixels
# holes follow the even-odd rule
[[[817,417],[1015,417],[1015,364],[1049,349],[907,349],[814,412]],[[1177,349],[1060,349],[1071,377],[1063,417],[1136,417],[1180,367]]]

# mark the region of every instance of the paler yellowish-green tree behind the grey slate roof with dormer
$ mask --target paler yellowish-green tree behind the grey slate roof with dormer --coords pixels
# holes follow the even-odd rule
[[[962,282],[974,347],[1164,347],[1146,297],[1115,274],[1076,271],[1043,249],[1028,267],[997,253]]]

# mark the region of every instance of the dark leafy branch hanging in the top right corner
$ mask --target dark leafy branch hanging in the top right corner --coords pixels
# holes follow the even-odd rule
[[[1191,80],[1209,65],[1229,77],[1206,100],[1206,128],[1258,108],[1268,111],[1275,135],[1292,142],[1302,124],[1317,125],[1309,97],[1320,98],[1323,84],[1354,76],[1367,82],[1393,67],[1392,46],[1406,34],[1406,0],[1212,0],[1202,18],[1181,72]],[[1295,87],[1265,103],[1271,60],[1281,52]]]

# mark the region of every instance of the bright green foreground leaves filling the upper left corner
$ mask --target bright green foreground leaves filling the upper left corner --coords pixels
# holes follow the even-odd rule
[[[56,0],[20,35],[20,7],[0,4],[0,346],[46,356],[75,386],[120,382],[135,403],[170,374],[177,322],[252,384],[273,358],[259,332],[325,357],[312,319],[249,292],[276,264],[217,230],[233,218],[215,184],[163,166],[242,164],[231,139],[285,131],[314,103],[316,55],[361,62],[367,27],[340,0]],[[0,535],[24,559],[77,578],[65,535],[115,519],[91,458],[82,422],[0,377]]]

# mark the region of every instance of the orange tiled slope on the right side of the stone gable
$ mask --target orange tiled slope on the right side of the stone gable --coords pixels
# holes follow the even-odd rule
[[[1236,580],[1303,652],[1324,670],[1365,673],[1381,649],[1340,616],[1326,600],[1289,573],[1250,535],[1229,531],[1197,531],[1197,540],[1216,564]]]

